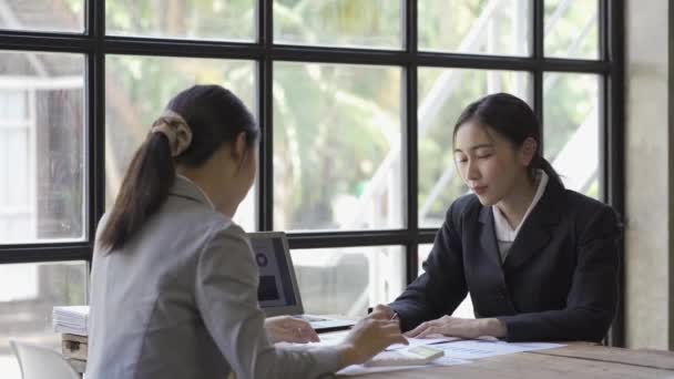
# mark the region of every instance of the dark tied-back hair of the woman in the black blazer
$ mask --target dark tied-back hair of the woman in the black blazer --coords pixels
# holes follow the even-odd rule
[[[508,93],[494,93],[471,103],[455,124],[455,140],[459,127],[469,121],[493,129],[518,147],[524,140],[533,139],[537,150],[528,166],[529,177],[535,177],[535,170],[542,170],[550,180],[563,186],[560,175],[541,153],[541,123],[524,101]]]

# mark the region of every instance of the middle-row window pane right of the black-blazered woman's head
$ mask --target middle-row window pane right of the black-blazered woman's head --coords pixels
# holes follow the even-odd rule
[[[599,198],[600,76],[549,72],[544,75],[545,158],[568,188]]]

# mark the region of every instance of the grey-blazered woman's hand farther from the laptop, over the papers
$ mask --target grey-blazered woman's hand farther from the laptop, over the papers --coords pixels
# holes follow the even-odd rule
[[[398,321],[361,319],[340,346],[341,362],[345,367],[362,363],[394,344],[409,344],[400,334]]]

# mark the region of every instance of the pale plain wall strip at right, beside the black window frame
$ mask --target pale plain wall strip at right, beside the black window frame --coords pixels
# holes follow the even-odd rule
[[[672,344],[671,1],[625,1],[625,338]]]

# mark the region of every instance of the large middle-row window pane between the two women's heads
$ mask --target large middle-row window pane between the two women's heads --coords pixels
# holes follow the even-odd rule
[[[277,63],[274,79],[274,228],[401,227],[401,70]]]

